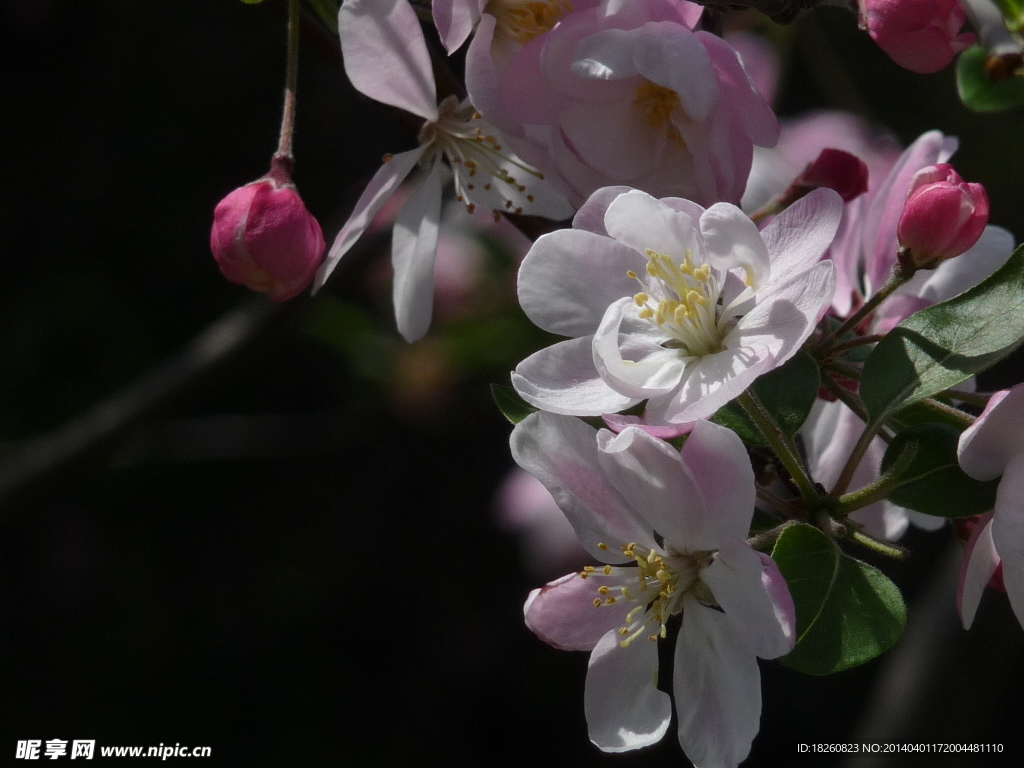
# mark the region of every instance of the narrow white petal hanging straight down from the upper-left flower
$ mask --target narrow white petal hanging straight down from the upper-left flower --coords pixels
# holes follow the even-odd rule
[[[408,342],[423,338],[434,304],[434,259],[441,219],[441,164],[435,161],[394,221],[391,265],[394,317]]]

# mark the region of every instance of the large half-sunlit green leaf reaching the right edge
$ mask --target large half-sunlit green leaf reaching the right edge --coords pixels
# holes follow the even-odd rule
[[[864,362],[860,397],[878,421],[966,381],[1022,341],[1024,246],[974,288],[893,329]]]

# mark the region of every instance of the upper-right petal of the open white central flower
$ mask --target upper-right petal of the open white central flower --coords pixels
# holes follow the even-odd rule
[[[761,231],[771,258],[771,282],[784,283],[814,266],[831,245],[842,217],[843,199],[822,187],[772,219]]]

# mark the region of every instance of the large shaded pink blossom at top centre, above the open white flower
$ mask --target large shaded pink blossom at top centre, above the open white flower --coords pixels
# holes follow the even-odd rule
[[[754,144],[773,145],[778,122],[735,50],[690,29],[695,17],[667,0],[574,11],[470,92],[484,117],[500,101],[513,146],[574,205],[611,184],[738,203]]]

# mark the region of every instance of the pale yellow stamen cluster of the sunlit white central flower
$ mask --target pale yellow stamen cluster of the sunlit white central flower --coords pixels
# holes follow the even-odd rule
[[[692,252],[687,250],[681,264],[665,253],[650,248],[647,254],[647,276],[656,281],[657,293],[664,298],[654,301],[648,291],[640,291],[633,301],[640,307],[642,319],[654,323],[676,339],[686,354],[700,356],[722,348],[723,329],[719,328],[718,278],[708,264],[694,266]],[[630,269],[627,276],[643,288],[650,286]]]

